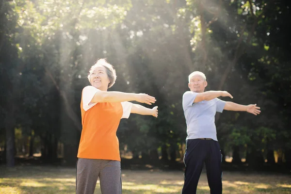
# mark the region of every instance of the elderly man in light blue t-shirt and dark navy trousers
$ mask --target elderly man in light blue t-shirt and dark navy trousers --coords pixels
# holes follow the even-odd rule
[[[183,95],[183,110],[187,124],[186,152],[184,163],[184,186],[182,194],[195,194],[198,180],[206,165],[211,194],[222,194],[222,155],[216,137],[214,116],[216,112],[246,111],[258,115],[256,104],[247,106],[226,102],[217,97],[231,97],[226,91],[204,92],[207,81],[204,73],[194,71],[189,75],[187,91]]]

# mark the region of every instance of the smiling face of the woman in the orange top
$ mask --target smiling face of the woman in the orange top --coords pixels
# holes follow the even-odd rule
[[[90,83],[99,90],[107,91],[109,79],[104,66],[95,67],[90,74]]]

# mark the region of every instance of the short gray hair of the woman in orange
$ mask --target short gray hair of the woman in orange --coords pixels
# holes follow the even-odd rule
[[[104,66],[106,69],[106,73],[107,73],[107,77],[109,80],[109,84],[108,84],[108,88],[112,87],[113,84],[116,81],[116,71],[113,67],[113,65],[109,64],[106,59],[98,59],[94,65],[91,66],[90,70],[89,70],[89,74],[88,74],[88,80],[90,82],[90,78],[91,78],[91,74],[92,71],[95,69],[95,67],[97,66]],[[91,83],[91,82],[90,82]]]

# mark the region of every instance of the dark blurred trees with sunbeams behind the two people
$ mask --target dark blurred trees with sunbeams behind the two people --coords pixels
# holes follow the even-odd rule
[[[261,107],[217,113],[224,169],[291,170],[291,2],[287,0],[1,0],[0,163],[74,166],[81,90],[107,58],[109,91],[156,97],[117,136],[123,168],[182,169],[188,75]],[[147,105],[146,105],[147,106]],[[152,107],[152,106],[147,106]]]

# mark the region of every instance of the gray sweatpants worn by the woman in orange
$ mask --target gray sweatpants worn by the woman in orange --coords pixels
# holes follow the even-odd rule
[[[98,177],[102,194],[122,194],[119,161],[79,158],[76,171],[76,194],[94,194]]]

